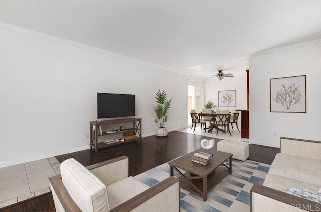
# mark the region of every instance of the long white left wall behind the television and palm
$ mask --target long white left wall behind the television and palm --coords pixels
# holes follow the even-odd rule
[[[97,92],[135,94],[147,136],[157,128],[155,92],[165,89],[173,97],[166,127],[187,125],[190,76],[3,24],[0,46],[0,167],[88,149]]]

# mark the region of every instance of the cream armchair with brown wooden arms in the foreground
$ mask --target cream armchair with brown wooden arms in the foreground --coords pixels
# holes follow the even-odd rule
[[[49,178],[56,211],[180,211],[179,180],[149,187],[128,177],[128,157],[84,167],[65,160],[61,175]]]

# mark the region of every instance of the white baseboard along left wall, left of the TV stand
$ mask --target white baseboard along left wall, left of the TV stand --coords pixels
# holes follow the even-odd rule
[[[39,154],[39,155],[31,156],[31,157],[24,157],[24,158],[19,158],[19,159],[14,159],[14,160],[2,161],[2,162],[0,162],[0,168],[12,166],[12,165],[17,165],[17,164],[21,164],[21,163],[27,163],[27,162],[31,162],[31,161],[35,161],[35,160],[46,159],[49,157],[54,157],[57,155],[67,154],[67,153],[71,153],[71,152],[82,151],[82,150],[89,149],[89,148],[90,148],[89,145],[86,145],[86,146],[81,146],[81,147],[72,148],[72,149],[64,149],[64,150],[56,151],[56,152],[48,152],[48,153]]]

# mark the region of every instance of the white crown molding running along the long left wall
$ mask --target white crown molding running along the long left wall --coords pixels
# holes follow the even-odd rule
[[[118,53],[110,52],[108,50],[100,49],[100,48],[97,48],[97,47],[89,46],[89,45],[86,45],[86,44],[78,43],[78,42],[67,40],[67,39],[64,39],[64,38],[59,38],[59,37],[48,35],[48,34],[45,34],[45,33],[29,30],[29,29],[26,29],[26,28],[15,26],[15,25],[10,25],[10,24],[4,23],[4,22],[0,22],[0,28],[4,28],[4,29],[7,29],[7,30],[12,30],[12,31],[24,33],[24,34],[35,36],[35,37],[38,37],[38,38],[45,38],[45,39],[49,39],[49,40],[54,40],[54,41],[57,41],[57,42],[60,42],[60,43],[63,43],[63,44],[73,45],[73,46],[76,46],[76,47],[81,47],[81,48],[85,48],[85,49],[94,50],[94,51],[97,51],[97,52],[102,52],[102,53],[109,54],[109,55],[112,55],[112,56],[115,56],[115,57],[119,57],[119,58],[122,58],[122,59],[125,59],[125,60],[135,61],[135,62],[143,63],[143,64],[146,64],[146,65],[155,67],[155,68],[164,69],[164,70],[167,70],[167,71],[172,71],[172,72],[176,72],[177,73],[176,70],[172,70],[172,69],[169,69],[167,67],[160,66],[160,65],[157,65],[157,64],[154,64],[154,63],[149,63],[149,62],[146,62],[146,61],[143,61],[143,60],[139,60],[139,59],[136,59],[136,58],[132,58],[132,57],[129,57],[129,56],[125,56],[125,55],[121,55],[121,54],[118,54]]]

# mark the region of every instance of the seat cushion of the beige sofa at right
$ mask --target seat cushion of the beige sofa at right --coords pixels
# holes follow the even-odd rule
[[[321,186],[321,160],[278,153],[269,173]]]

